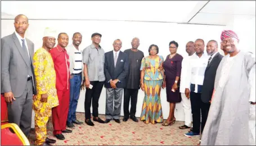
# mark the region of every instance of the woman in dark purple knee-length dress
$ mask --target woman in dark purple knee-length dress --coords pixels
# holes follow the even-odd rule
[[[164,61],[164,82],[163,88],[166,88],[167,101],[170,103],[170,111],[167,121],[163,126],[174,124],[174,109],[176,103],[181,102],[181,93],[179,93],[179,77],[181,76],[181,62],[183,57],[177,53],[178,43],[172,41],[169,43],[170,54]]]

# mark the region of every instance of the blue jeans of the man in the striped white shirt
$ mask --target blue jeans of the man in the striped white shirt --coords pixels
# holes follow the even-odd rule
[[[69,115],[68,122],[77,120],[75,111],[77,110],[77,103],[80,95],[80,86],[82,82],[82,75],[73,75],[70,79],[70,99],[69,99]]]

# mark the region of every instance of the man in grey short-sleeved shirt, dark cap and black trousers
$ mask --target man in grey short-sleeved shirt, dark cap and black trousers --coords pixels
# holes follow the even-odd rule
[[[105,123],[98,117],[98,99],[104,85],[104,61],[105,52],[101,48],[102,35],[99,33],[92,34],[92,44],[83,50],[84,78],[86,84],[86,99],[84,101],[84,111],[86,111],[86,124],[94,126],[91,121],[91,103],[93,121]]]

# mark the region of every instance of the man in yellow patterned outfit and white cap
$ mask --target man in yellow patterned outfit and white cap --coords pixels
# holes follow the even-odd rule
[[[43,36],[43,46],[35,52],[33,65],[37,83],[37,97],[33,98],[35,111],[35,145],[50,145],[56,140],[47,138],[46,125],[51,116],[52,108],[59,106],[56,91],[56,73],[50,54],[55,45],[56,31],[46,28]]]

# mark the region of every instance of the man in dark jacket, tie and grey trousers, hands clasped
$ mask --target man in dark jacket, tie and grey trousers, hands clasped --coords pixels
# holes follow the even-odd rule
[[[121,102],[123,89],[126,85],[129,62],[126,53],[120,51],[122,42],[116,39],[113,43],[114,51],[105,53],[104,74],[106,77],[106,123],[110,120],[120,123]],[[113,110],[114,101],[114,110]]]

